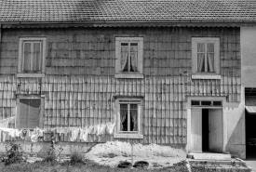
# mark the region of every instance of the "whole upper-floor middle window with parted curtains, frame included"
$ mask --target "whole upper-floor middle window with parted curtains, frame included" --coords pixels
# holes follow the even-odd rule
[[[115,77],[142,78],[143,38],[115,38]]]

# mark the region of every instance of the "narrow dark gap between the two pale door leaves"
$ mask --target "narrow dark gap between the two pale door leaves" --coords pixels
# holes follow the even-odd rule
[[[209,152],[209,110],[202,109],[202,151]]]

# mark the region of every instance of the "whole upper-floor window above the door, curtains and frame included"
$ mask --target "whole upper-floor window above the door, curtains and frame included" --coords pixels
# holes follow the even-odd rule
[[[220,74],[220,39],[192,38],[192,61],[192,72],[197,77],[198,75],[208,75],[206,76],[208,79],[212,75]],[[214,79],[214,77],[209,79]]]

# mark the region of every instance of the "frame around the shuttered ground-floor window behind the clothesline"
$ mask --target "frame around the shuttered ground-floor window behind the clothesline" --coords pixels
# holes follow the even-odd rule
[[[44,107],[45,107],[45,97],[43,95],[19,95],[17,96],[17,118],[15,121],[15,128],[20,128],[20,99],[40,99],[40,112],[39,112],[39,127],[44,127]],[[27,129],[34,129],[34,128],[27,128]]]

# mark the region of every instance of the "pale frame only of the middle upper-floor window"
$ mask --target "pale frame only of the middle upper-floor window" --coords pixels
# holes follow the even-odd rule
[[[121,43],[138,43],[138,72],[121,72]],[[115,78],[143,78],[143,37],[115,37]]]

